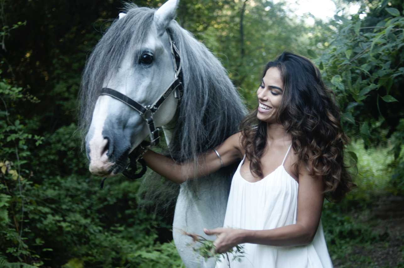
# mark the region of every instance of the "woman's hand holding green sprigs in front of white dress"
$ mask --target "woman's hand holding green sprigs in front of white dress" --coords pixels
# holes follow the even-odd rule
[[[215,253],[225,253],[238,244],[243,243],[242,229],[233,228],[216,228],[213,230],[204,229],[205,234],[216,234],[217,239],[213,243],[215,245]]]

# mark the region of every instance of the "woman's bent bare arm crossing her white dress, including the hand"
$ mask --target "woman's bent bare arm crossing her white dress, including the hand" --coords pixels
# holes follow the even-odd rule
[[[320,176],[312,177],[305,167],[299,172],[299,192],[297,197],[296,224],[270,230],[244,230],[216,228],[205,230],[206,234],[216,234],[216,252],[223,253],[242,243],[270,246],[298,246],[311,243],[320,222],[324,201],[324,184]]]

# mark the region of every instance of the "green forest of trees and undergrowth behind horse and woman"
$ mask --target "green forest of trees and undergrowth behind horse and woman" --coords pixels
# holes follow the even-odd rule
[[[141,180],[123,176],[99,190],[80,150],[80,75],[123,2],[0,5],[0,267],[184,267],[170,232],[175,204],[156,209],[164,199],[146,202]],[[282,1],[181,0],[177,21],[221,59],[249,108],[267,61],[288,50],[316,63],[357,164],[358,188],[324,202],[331,258],[335,267],[404,267],[403,1],[336,5],[324,22]]]

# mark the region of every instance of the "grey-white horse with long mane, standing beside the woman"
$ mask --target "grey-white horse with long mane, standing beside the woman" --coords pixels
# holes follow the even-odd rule
[[[86,62],[80,128],[94,175],[123,172],[130,152],[147,136],[152,144],[158,140],[158,127],[164,131],[166,154],[176,161],[196,160],[238,131],[246,114],[240,96],[220,61],[175,21],[177,6],[178,0],[158,9],[126,4]],[[173,81],[181,84],[181,92],[167,90]],[[163,97],[158,109],[150,108]],[[147,110],[153,126],[129,100]],[[213,258],[205,262],[196,256],[192,239],[180,230],[206,237],[203,228],[223,227],[234,171],[235,166],[225,167],[180,185],[173,239],[188,268],[215,266]]]

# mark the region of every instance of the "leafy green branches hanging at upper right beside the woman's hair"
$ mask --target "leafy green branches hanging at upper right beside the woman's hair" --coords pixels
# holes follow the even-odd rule
[[[366,148],[393,142],[396,153],[390,166],[396,174],[392,183],[396,194],[404,194],[404,164],[399,157],[404,134],[400,130],[404,118],[404,17],[399,3],[392,1],[385,8],[386,1],[374,1],[368,4],[370,12],[364,19],[335,16],[335,35],[316,63],[335,92],[345,132],[363,139]]]

